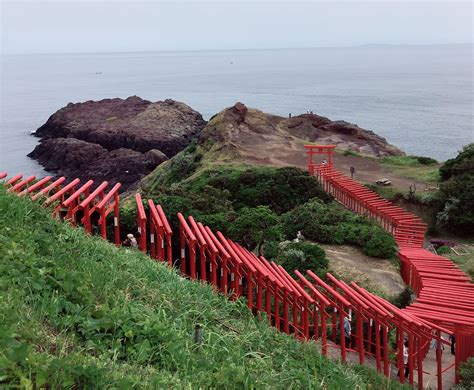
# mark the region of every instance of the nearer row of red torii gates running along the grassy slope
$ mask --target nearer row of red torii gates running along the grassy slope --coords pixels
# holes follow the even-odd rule
[[[311,159],[317,154],[311,152]],[[332,159],[329,158],[329,161],[330,165],[322,164],[320,171],[327,170],[328,165],[332,167]],[[310,172],[314,174],[319,168],[311,164]],[[5,172],[0,172],[0,180],[4,180],[8,192],[42,201],[52,208],[56,218],[82,225],[88,233],[97,230],[104,239],[107,239],[107,222],[112,221],[113,241],[121,245],[119,183],[107,191],[107,182],[92,190],[92,180],[79,187],[79,179],[67,182],[64,177],[57,180],[50,176],[41,180],[36,180],[34,176],[23,179],[22,175],[7,178]],[[356,283],[347,284],[330,273],[323,281],[311,270],[306,274],[295,271],[298,279],[294,279],[275,262],[256,256],[221,232],[214,233],[192,216],[186,219],[181,213],[177,214],[180,226],[179,259],[175,260],[173,231],[163,208],[152,200],[144,202],[138,193],[135,203],[138,247],[141,251],[149,253],[153,259],[166,262],[170,267],[178,267],[182,275],[192,280],[211,284],[216,292],[220,291],[231,300],[245,299],[254,314],[265,315],[269,324],[279,331],[300,340],[319,341],[323,355],[339,350],[343,361],[348,359],[349,354],[358,356],[362,365],[365,360],[373,360],[378,372],[394,376],[398,371],[400,382],[416,384],[421,389],[424,374],[428,374],[423,371],[423,360],[431,341],[437,340],[437,356],[440,357],[442,343],[447,343],[441,334],[453,333],[450,327],[420,317],[415,311],[401,310]],[[109,215],[110,218],[107,218]],[[407,250],[410,249],[413,248],[407,247]],[[418,275],[417,272],[402,266],[405,280],[406,275],[418,280],[414,276]],[[472,292],[474,290],[471,289],[469,293]],[[351,328],[349,338],[344,337],[347,335],[347,323]],[[456,335],[461,334],[457,332]],[[472,334],[471,340],[474,340]],[[349,345],[346,345],[347,341]],[[463,350],[462,335],[460,341],[457,345],[461,345]],[[404,347],[405,342],[408,347]],[[402,352],[405,348],[408,352],[407,364]],[[464,349],[472,355],[472,350]],[[457,354],[457,368],[459,362],[466,359]],[[406,378],[405,366],[408,368]],[[442,388],[443,372],[450,368],[443,369],[438,358],[436,376],[439,389]]]

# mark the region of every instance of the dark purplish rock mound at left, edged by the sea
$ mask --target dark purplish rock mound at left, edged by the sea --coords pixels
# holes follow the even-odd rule
[[[184,103],[133,96],[68,104],[35,135],[29,154],[61,175],[133,185],[195,139],[206,125]]]

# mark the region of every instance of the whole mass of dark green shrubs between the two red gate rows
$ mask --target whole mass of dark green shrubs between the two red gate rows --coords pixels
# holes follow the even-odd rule
[[[391,235],[344,209],[307,172],[296,167],[224,163],[217,149],[210,141],[188,146],[150,174],[141,191],[170,215],[178,211],[193,215],[283,266],[283,258],[288,257],[284,243],[300,231],[312,243],[293,246],[290,255],[297,251],[296,257],[321,276],[328,262],[316,243],[356,245],[379,258],[395,254]],[[133,223],[133,202],[124,211]],[[292,272],[293,262],[286,263]]]

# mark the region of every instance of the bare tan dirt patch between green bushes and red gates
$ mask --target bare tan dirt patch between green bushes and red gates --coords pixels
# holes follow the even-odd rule
[[[389,261],[366,256],[346,245],[321,245],[329,259],[329,270],[362,287],[383,295],[399,294],[405,287],[399,270]]]

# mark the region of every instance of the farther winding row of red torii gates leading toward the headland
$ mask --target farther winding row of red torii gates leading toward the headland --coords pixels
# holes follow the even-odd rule
[[[416,301],[403,312],[442,326],[449,330],[445,332],[447,334],[454,334],[458,382],[460,363],[474,356],[474,285],[471,278],[451,260],[423,248],[426,224],[418,216],[395,206],[334,169],[334,145],[305,147],[310,175],[316,177],[338,202],[379,223],[394,236],[402,278],[417,296]],[[321,155],[326,159],[315,161]],[[437,356],[440,387],[440,373],[445,370],[441,369],[440,351]]]

